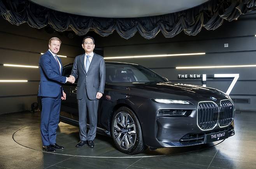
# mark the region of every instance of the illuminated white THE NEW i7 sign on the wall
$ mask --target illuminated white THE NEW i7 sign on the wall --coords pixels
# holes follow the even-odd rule
[[[186,79],[186,78],[202,78],[203,86],[206,87],[206,74],[178,74],[179,79]],[[214,74],[214,75],[208,75],[209,78],[234,78],[231,82],[228,90],[226,91],[226,94],[229,95],[233,87],[235,86],[235,83],[237,83],[237,80],[239,78],[239,74]]]

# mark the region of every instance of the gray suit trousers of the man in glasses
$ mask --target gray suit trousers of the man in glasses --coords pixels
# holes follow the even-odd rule
[[[78,102],[78,111],[79,111],[80,140],[84,140],[84,141],[94,140],[96,136],[96,129],[97,129],[97,114],[98,114],[99,100],[90,100],[85,90],[84,97],[82,99],[77,100],[77,102]],[[87,112],[89,116],[89,131],[86,134]]]

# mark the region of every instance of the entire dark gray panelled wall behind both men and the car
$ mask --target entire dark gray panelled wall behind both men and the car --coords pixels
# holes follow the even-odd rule
[[[256,67],[222,69],[175,69],[177,66],[222,66],[256,64],[256,14],[241,16],[237,21],[227,22],[214,31],[202,31],[196,36],[180,33],[174,38],[164,38],[159,33],[156,38],[146,40],[135,34],[129,40],[121,38],[116,32],[107,37],[96,33],[88,35],[95,38],[95,48],[104,50],[104,57],[127,55],[155,55],[173,53],[205,52],[205,55],[159,57],[143,59],[111,59],[106,61],[137,63],[151,68],[174,83],[203,85],[202,74],[207,74],[206,85],[226,91],[232,81],[230,78],[211,78],[213,74],[239,73],[240,77],[230,93],[232,98],[248,98],[250,103],[236,103],[236,109],[256,110]],[[35,29],[26,23],[14,26],[0,19],[0,64],[38,65],[41,52],[48,49],[48,40],[57,36],[62,40],[60,55],[63,65],[73,62],[76,55],[83,52],[82,37],[68,39],[64,33],[48,34],[44,29]],[[224,43],[229,47],[224,48]],[[100,53],[102,54],[102,53]],[[0,114],[28,110],[32,102],[37,102],[39,69],[0,66],[0,79],[28,79],[28,83],[0,83]],[[200,74],[198,79],[180,79],[178,74]]]

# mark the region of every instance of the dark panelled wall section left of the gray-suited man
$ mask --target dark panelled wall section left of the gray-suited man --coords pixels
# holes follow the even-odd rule
[[[0,83],[0,114],[28,110],[31,103],[37,102],[39,69],[5,67],[2,64],[38,66],[40,53],[48,50],[49,39],[56,36],[62,41],[58,54],[70,56],[61,58],[65,65],[83,51],[81,40],[80,37],[70,40],[64,33],[48,34],[44,29],[31,28],[26,23],[15,26],[2,17],[0,24],[0,79],[28,80],[28,83]]]

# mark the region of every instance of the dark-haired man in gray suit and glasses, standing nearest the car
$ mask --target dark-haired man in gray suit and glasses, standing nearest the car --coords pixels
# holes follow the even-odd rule
[[[99,100],[105,87],[105,62],[102,56],[93,53],[94,39],[87,36],[82,41],[85,54],[75,57],[71,77],[77,81],[77,103],[79,110],[80,141],[75,147],[88,144],[94,147],[96,136],[97,112]],[[86,133],[87,114],[89,116],[89,131]]]

